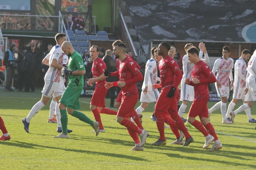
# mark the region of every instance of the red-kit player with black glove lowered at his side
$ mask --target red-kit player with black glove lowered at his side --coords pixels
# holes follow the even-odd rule
[[[159,139],[151,145],[165,145],[164,123],[177,125],[186,138],[183,146],[188,146],[194,141],[193,137],[187,132],[183,120],[178,115],[176,95],[182,74],[178,64],[168,55],[171,46],[167,42],[161,42],[157,49],[157,54],[163,57],[159,62],[159,71],[161,79],[161,93],[157,99],[154,115],[157,119],[157,129],[160,133]],[[168,113],[169,112],[169,113]]]

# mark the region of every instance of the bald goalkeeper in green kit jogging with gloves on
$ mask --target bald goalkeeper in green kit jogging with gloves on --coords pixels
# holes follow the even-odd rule
[[[61,45],[62,51],[69,56],[68,68],[63,67],[61,75],[69,75],[69,84],[59,100],[60,122],[62,126],[62,133],[54,138],[69,138],[67,132],[68,115],[78,118],[79,120],[90,124],[95,130],[96,136],[99,134],[99,122],[93,122],[84,113],[78,112],[80,104],[78,98],[84,87],[85,67],[81,55],[74,50],[72,44],[68,41]]]

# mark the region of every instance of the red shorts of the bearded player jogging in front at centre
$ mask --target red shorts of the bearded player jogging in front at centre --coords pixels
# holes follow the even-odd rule
[[[124,96],[118,109],[117,116],[129,118],[133,116],[134,107],[138,101],[139,94],[135,96]]]

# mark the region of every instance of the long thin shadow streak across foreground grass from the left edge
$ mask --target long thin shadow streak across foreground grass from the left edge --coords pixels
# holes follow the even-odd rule
[[[63,140],[63,139],[62,139]],[[64,139],[65,140],[65,139]],[[14,143],[15,142],[15,143]],[[108,157],[114,157],[114,158],[125,158],[125,159],[130,159],[130,160],[135,160],[135,161],[146,161],[148,162],[147,159],[141,158],[141,157],[134,157],[134,156],[129,156],[126,154],[114,154],[114,153],[105,153],[105,152],[96,152],[96,151],[88,151],[88,150],[77,150],[77,149],[68,149],[68,148],[57,148],[57,147],[50,147],[50,146],[44,146],[44,145],[37,145],[37,144],[32,144],[32,143],[26,143],[26,142],[20,142],[20,141],[12,141],[12,142],[0,142],[0,145],[11,145],[11,146],[16,146],[20,148],[34,148],[34,149],[41,149],[41,148],[46,148],[46,149],[59,149],[63,151],[69,151],[69,152],[78,152],[78,153],[86,153],[86,154],[91,154],[91,155],[105,155]]]

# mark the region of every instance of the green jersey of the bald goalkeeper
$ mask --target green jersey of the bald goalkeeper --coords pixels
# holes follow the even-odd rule
[[[69,58],[69,70],[85,70],[83,59],[77,51]],[[73,90],[82,90],[84,88],[84,75],[69,75],[68,86]]]

